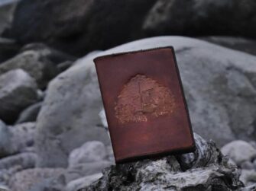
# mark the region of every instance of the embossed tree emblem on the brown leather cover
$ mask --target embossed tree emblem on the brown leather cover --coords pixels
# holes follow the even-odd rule
[[[136,75],[118,95],[115,116],[120,123],[146,122],[151,117],[170,115],[174,107],[169,88],[145,75]]]

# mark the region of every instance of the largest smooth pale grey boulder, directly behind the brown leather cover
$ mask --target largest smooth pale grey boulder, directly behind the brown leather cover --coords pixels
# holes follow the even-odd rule
[[[212,138],[218,145],[236,138],[253,140],[256,135],[256,57],[202,40],[154,37],[79,59],[50,83],[37,119],[39,164],[66,165],[60,161],[67,158],[71,148],[89,139],[105,137],[104,130],[96,127],[100,124],[98,114],[102,100],[92,62],[94,57],[170,45],[177,53],[193,130],[207,139]]]

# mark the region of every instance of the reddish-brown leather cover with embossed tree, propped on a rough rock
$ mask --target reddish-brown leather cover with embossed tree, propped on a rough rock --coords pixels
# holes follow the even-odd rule
[[[173,47],[94,62],[117,164],[194,150]]]

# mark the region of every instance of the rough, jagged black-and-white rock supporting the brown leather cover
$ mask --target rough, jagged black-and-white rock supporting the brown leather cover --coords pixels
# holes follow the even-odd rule
[[[238,170],[228,164],[214,142],[206,142],[196,134],[195,141],[195,153],[112,166],[103,171],[99,181],[79,190],[240,189],[243,185]]]

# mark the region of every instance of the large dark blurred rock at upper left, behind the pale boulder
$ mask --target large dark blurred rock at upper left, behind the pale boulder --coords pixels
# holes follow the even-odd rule
[[[21,0],[11,36],[19,43],[43,41],[81,56],[138,38],[144,15],[154,2]]]

